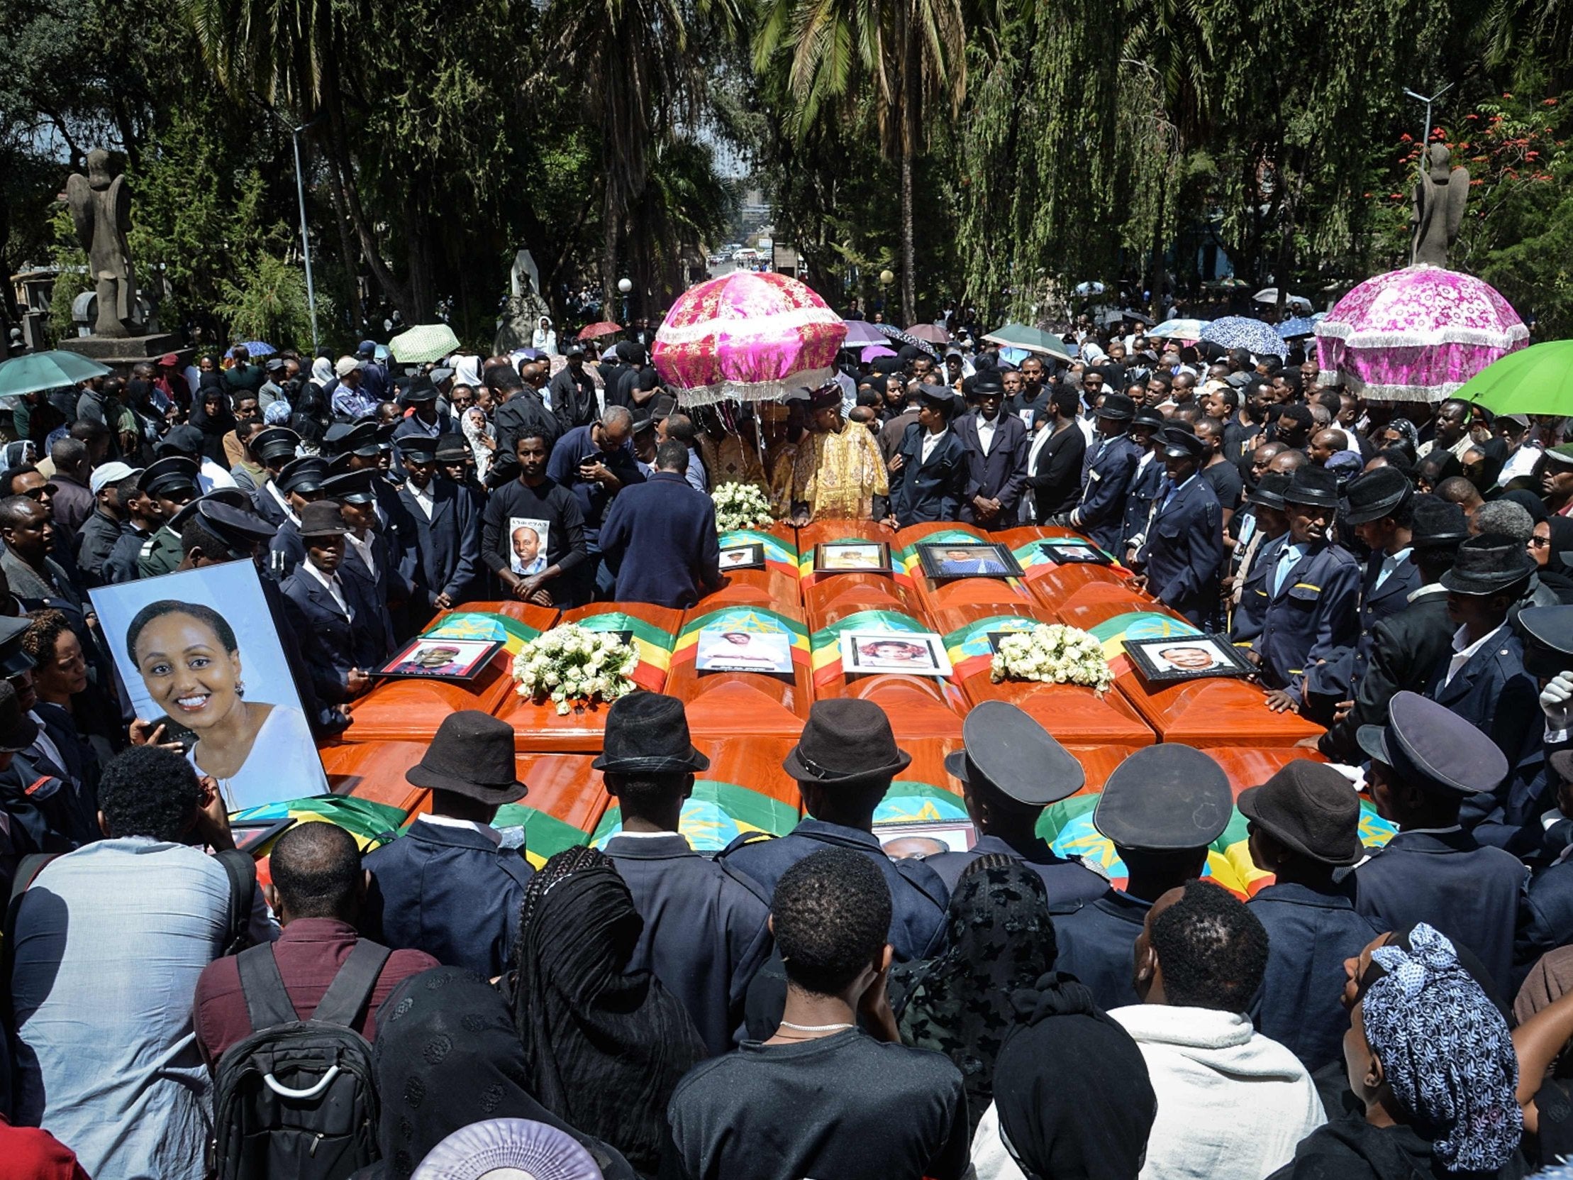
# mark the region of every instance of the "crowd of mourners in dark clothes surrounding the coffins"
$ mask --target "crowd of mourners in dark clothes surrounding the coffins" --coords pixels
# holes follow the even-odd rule
[[[785,404],[680,409],[650,345],[171,354],[14,409],[0,1175],[1510,1180],[1573,1153],[1560,419],[1139,329],[1070,362],[848,352]],[[1085,777],[1011,705],[947,760],[969,851],[887,854],[911,757],[834,699],[783,763],[804,818],[708,856],[680,820],[709,763],[635,692],[593,763],[617,834],[538,867],[494,826],[529,791],[513,730],[466,711],[398,839],[297,823],[260,881],[87,595],[255,563],[329,738],[445,607],[692,606],[730,481],[785,522],[1085,533],[1326,732],[1238,798],[1200,750],[1133,754],[1092,813],[1115,889],[1041,837]],[[1206,879],[1236,806],[1273,875],[1249,898]]]

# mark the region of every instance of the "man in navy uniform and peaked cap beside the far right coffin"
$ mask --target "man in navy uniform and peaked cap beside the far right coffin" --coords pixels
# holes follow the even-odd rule
[[[1136,555],[1142,585],[1194,626],[1218,617],[1218,571],[1224,565],[1224,510],[1199,478],[1206,444],[1181,426],[1159,434],[1164,481],[1153,499],[1145,543]]]

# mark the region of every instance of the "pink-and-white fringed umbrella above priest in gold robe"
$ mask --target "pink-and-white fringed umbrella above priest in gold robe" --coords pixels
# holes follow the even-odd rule
[[[735,271],[672,305],[650,359],[684,406],[780,401],[835,376],[845,338],[842,318],[796,278]]]

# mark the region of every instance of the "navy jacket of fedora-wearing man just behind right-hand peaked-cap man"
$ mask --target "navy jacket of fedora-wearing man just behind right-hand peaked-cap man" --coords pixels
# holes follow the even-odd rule
[[[1452,656],[1452,651],[1447,653]],[[1540,686],[1524,672],[1524,643],[1504,626],[1491,642],[1469,656],[1458,673],[1447,675],[1444,658],[1431,673],[1425,695],[1485,733],[1507,758],[1507,779],[1491,793],[1471,795],[1458,817],[1480,843],[1499,848],[1523,840],[1538,843],[1535,821],[1554,802],[1545,796],[1546,716],[1540,711]],[[1526,824],[1535,831],[1521,832]]]

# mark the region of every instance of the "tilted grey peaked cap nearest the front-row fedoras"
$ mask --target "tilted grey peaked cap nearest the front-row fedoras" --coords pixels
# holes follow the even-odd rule
[[[945,755],[945,769],[969,787],[986,784],[1027,807],[1048,807],[1082,788],[1079,761],[1016,705],[985,700],[961,727],[966,749]]]

